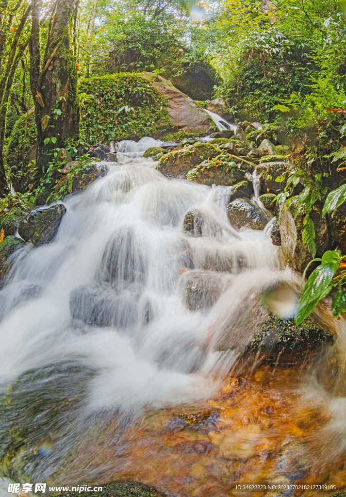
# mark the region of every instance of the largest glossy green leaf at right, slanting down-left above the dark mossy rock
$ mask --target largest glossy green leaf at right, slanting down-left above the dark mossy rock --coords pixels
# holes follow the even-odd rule
[[[295,316],[296,326],[300,325],[317,306],[320,299],[330,292],[334,277],[333,263],[321,264],[312,271],[300,296]]]

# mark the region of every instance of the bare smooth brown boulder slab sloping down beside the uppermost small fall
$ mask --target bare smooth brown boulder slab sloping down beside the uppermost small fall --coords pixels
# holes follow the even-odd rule
[[[153,73],[141,73],[143,78],[152,79],[155,88],[168,99],[168,114],[174,127],[187,133],[208,133],[209,116],[197,107],[192,98],[179,91],[173,84]]]

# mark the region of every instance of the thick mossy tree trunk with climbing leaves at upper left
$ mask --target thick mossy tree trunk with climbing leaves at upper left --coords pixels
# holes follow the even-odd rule
[[[77,67],[70,47],[76,0],[57,0],[49,24],[49,33],[40,71],[39,22],[33,15],[30,37],[30,84],[35,102],[39,176],[52,159],[52,151],[63,147],[68,138],[78,138],[80,109]],[[39,12],[33,12],[39,16]],[[48,140],[49,139],[49,140]]]

